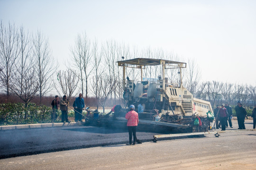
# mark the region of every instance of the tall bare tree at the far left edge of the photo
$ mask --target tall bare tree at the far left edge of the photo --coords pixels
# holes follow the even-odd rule
[[[7,96],[10,95],[10,83],[15,66],[16,59],[18,58],[18,31],[15,24],[9,27],[4,27],[2,20],[0,23],[0,86],[6,92]]]

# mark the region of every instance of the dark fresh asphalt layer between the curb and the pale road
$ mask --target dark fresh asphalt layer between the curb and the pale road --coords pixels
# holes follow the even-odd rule
[[[232,120],[234,128],[227,128],[229,131],[238,131],[236,120]],[[212,123],[212,125],[214,122]],[[37,126],[26,125],[12,126],[11,129],[1,127],[0,130],[0,159],[32,155],[38,153],[50,153],[56,151],[89,148],[96,146],[107,146],[128,143],[127,128],[104,128],[83,126],[82,123],[54,123],[36,124]],[[47,126],[50,127],[47,127]],[[252,120],[246,120],[247,129],[252,128]],[[139,126],[138,126],[139,127]],[[7,127],[6,127],[7,128]],[[138,128],[137,138],[142,142],[152,142],[154,135],[166,134],[146,131]],[[157,131],[157,129],[154,129]],[[221,129],[216,129],[219,132]],[[211,131],[214,132],[214,131]],[[220,133],[221,135],[221,133]],[[195,136],[175,136],[159,138],[158,140],[181,139]],[[202,137],[202,136],[198,136]]]

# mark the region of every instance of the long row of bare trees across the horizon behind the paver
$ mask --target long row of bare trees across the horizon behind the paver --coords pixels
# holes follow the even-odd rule
[[[49,92],[66,95],[68,100],[82,93],[85,102],[93,96],[103,110],[109,99],[112,105],[121,104],[122,67],[118,67],[116,62],[122,57],[125,60],[152,58],[186,62],[187,68],[182,73],[183,86],[194,97],[210,101],[212,107],[238,100],[247,106],[256,102],[255,86],[202,82],[200,67],[194,59],[183,59],[162,49],[137,49],[114,40],[98,42],[88,38],[85,32],[75,37],[67,69],[57,70],[57,56],[52,56],[49,41],[41,31],[30,34],[23,26],[0,23],[0,90],[7,96],[18,96],[25,105]],[[158,78],[161,72],[160,66],[146,67],[143,77]],[[165,74],[169,83],[180,83],[178,69],[167,69]],[[140,69],[128,68],[126,75],[135,83],[140,81]]]

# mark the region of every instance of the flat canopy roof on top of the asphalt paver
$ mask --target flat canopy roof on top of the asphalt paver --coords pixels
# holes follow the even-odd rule
[[[182,68],[186,67],[186,63],[171,61],[165,59],[146,59],[146,58],[137,58],[137,59],[128,59],[123,61],[117,61],[119,66],[123,65],[143,65],[143,66],[156,66],[161,65],[161,61],[165,61],[165,65],[175,65],[176,67],[180,65]]]

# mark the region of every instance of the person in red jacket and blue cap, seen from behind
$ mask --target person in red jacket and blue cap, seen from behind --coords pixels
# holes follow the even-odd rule
[[[126,113],[125,119],[127,119],[127,127],[129,132],[129,143],[127,145],[132,145],[132,136],[133,136],[133,145],[136,144],[136,127],[138,126],[138,113],[134,110],[134,105],[130,105],[130,111]]]

